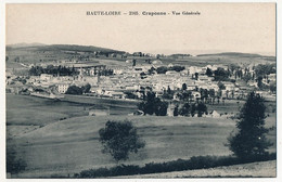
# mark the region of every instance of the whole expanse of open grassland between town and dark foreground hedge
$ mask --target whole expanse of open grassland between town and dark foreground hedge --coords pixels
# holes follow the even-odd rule
[[[113,103],[112,103],[113,104]],[[103,104],[104,105],[104,104]],[[236,103],[226,103],[228,110]],[[98,131],[107,120],[132,120],[146,146],[125,164],[188,159],[198,155],[229,155],[225,146],[235,121],[222,118],[127,116],[130,107],[112,105],[111,116],[88,116],[97,103],[55,102],[28,95],[7,94],[8,150],[14,147],[27,168],[18,178],[73,174],[85,169],[116,165],[102,154]],[[222,108],[222,105],[214,105]],[[115,115],[119,114],[119,115]],[[274,114],[266,126],[275,126]],[[275,142],[275,131],[268,138]],[[270,148],[275,152],[275,144]]]

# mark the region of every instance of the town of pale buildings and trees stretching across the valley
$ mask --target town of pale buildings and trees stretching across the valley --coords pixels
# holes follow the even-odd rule
[[[275,64],[264,61],[260,55],[243,56],[251,60],[252,56],[258,57],[258,63],[225,63],[218,58],[218,64],[206,62],[191,65],[188,64],[191,58],[195,62],[200,57],[198,62],[203,63],[205,56],[210,58],[213,55],[130,54],[113,50],[86,50],[89,48],[81,50],[82,47],[67,48],[61,50],[61,54],[57,53],[60,51],[50,51],[50,48],[37,51],[36,54],[44,55],[46,60],[34,61],[26,61],[27,56],[23,53],[15,56],[11,51],[23,52],[22,48],[8,49],[11,55],[8,51],[7,64],[12,68],[7,68],[7,92],[49,99],[76,94],[139,102],[148,92],[154,92],[156,98],[168,103],[168,116],[174,116],[175,108],[185,102],[225,104],[226,100],[244,100],[251,91],[256,91],[267,101],[275,100]],[[62,54],[66,56],[60,58]],[[242,58],[241,54],[235,53],[219,55]]]

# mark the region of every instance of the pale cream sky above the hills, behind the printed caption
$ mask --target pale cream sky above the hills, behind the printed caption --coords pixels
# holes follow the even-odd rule
[[[120,11],[121,15],[86,15],[87,11]],[[128,15],[129,11],[138,11],[139,15]],[[143,11],[167,15],[142,15]],[[201,14],[172,15],[172,11]],[[275,3],[7,4],[5,38],[7,44],[39,42],[164,54],[274,55]]]

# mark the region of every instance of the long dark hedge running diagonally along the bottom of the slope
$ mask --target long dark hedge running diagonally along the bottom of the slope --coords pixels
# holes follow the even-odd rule
[[[150,162],[143,167],[133,165],[120,165],[112,168],[99,168],[84,170],[80,173],[75,173],[74,178],[101,178],[101,177],[117,177],[117,176],[132,176],[132,174],[148,174],[148,173],[161,173],[171,171],[183,171],[194,169],[207,169],[219,166],[232,166],[239,164],[273,160],[277,158],[277,154],[272,153],[265,156],[254,156],[248,160],[241,160],[232,156],[197,156],[191,157],[188,160],[178,159],[167,162]]]

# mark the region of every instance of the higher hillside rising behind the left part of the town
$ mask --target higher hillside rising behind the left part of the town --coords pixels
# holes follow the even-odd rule
[[[110,54],[124,54],[124,51],[77,44],[20,43],[7,46],[7,68],[17,68],[23,64],[57,64],[64,61],[98,62]],[[14,67],[16,66],[16,67]]]

